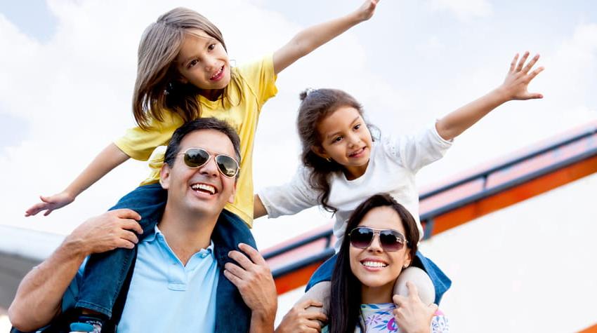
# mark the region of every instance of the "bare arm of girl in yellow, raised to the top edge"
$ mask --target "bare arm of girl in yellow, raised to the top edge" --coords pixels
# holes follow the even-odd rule
[[[286,45],[274,53],[274,72],[278,74],[293,62],[311,53],[315,48],[331,41],[346,30],[369,20],[373,16],[379,0],[367,0],[353,13],[336,20],[308,27],[299,32]]]

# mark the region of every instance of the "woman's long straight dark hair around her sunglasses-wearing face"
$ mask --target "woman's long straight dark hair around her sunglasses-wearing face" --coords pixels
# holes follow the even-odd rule
[[[350,270],[350,254],[348,251],[350,237],[348,233],[358,226],[367,212],[385,206],[393,208],[398,213],[405,229],[407,249],[410,252],[410,257],[414,258],[417,243],[419,242],[419,228],[416,226],[416,221],[410,212],[400,203],[397,203],[389,194],[376,194],[361,203],[348,219],[346,232],[336,259],[336,266],[334,266],[334,273],[332,273],[330,299],[334,301],[329,304],[328,324],[330,333],[354,332],[356,325],[359,325],[361,331],[365,332],[365,327],[362,327],[362,322],[359,320],[362,284],[355,277],[353,271]]]

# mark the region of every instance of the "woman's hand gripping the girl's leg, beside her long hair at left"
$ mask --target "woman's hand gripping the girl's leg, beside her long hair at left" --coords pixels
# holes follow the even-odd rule
[[[318,301],[306,299],[295,304],[275,330],[276,333],[285,332],[321,332],[322,322],[327,321],[327,316],[321,311],[308,311],[310,306],[320,308],[323,306]]]

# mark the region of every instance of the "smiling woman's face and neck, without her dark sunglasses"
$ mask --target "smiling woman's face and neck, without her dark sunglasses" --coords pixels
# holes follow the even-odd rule
[[[358,226],[393,229],[402,235],[405,234],[398,213],[389,206],[369,210]],[[362,283],[362,302],[391,302],[395,280],[402,268],[409,265],[411,261],[406,245],[398,251],[388,252],[381,247],[379,234],[376,233],[371,244],[364,249],[350,245],[349,256],[350,270]]]

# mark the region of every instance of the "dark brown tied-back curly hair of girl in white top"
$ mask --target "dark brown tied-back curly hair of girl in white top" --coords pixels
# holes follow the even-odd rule
[[[310,186],[319,193],[317,201],[329,212],[336,212],[336,208],[328,205],[329,175],[332,172],[342,172],[343,166],[336,161],[327,161],[317,156],[313,147],[321,147],[321,137],[317,125],[341,107],[353,107],[362,116],[362,106],[355,97],[338,89],[307,89],[300,95],[301,107],[298,108],[296,125],[298,137],[301,138],[301,160],[312,169],[309,177]],[[370,127],[367,125],[367,127]]]

